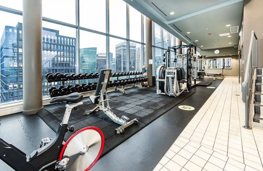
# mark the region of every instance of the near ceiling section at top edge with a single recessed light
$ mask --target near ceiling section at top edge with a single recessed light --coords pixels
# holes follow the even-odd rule
[[[191,14],[229,0],[144,0],[167,21]],[[153,4],[152,4],[153,3]],[[156,6],[155,6],[156,5]],[[163,12],[161,12],[158,8]],[[174,15],[170,15],[170,12]],[[166,15],[166,16],[165,16]]]

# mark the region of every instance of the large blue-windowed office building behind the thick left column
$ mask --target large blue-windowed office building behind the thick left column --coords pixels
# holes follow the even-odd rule
[[[48,72],[75,72],[75,41],[73,37],[59,35],[58,30],[43,28],[43,96],[48,95],[52,85],[47,83],[44,75]],[[0,39],[0,96],[1,103],[22,100],[23,62],[22,57],[22,23],[16,27],[5,26]]]

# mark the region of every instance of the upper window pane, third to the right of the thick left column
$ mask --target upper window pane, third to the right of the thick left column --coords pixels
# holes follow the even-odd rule
[[[109,0],[110,34],[120,37],[126,35],[126,2],[123,0]]]

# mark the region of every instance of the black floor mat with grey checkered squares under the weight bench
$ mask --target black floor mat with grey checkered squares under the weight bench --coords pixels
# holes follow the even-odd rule
[[[154,87],[143,89],[131,88],[127,89],[125,94],[121,92],[108,93],[112,108],[111,111],[117,117],[125,115],[130,120],[135,118],[139,120],[138,125],[133,124],[126,128],[124,134],[117,135],[115,133],[115,128],[119,127],[119,125],[109,119],[102,111],[83,115],[86,110],[95,107],[89,98],[83,99],[83,104],[78,106],[79,110],[72,110],[68,125],[75,126],[74,132],[86,126],[95,126],[101,129],[105,137],[105,146],[102,153],[104,155],[194,93],[194,91],[189,91],[188,93],[183,92],[177,98],[168,97],[157,95]],[[56,103],[45,106],[38,113],[38,116],[56,132],[63,119],[64,112],[65,103]],[[67,132],[65,140],[74,134],[74,132]]]

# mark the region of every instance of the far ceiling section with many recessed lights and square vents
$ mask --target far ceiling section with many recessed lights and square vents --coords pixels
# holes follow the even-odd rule
[[[243,1],[233,3],[206,13],[182,19],[169,24],[175,30],[180,29],[179,33],[189,37],[191,42],[197,44],[203,50],[214,49],[220,45],[221,48],[233,47],[238,44],[239,34],[230,34],[231,37],[219,34],[230,33],[230,27],[226,25],[239,26],[241,23]],[[175,27],[176,26],[176,27]],[[206,30],[208,29],[208,30]],[[240,30],[240,28],[239,28]],[[190,32],[190,34],[187,34]],[[208,35],[210,33],[211,35]],[[185,37],[186,37],[185,36]],[[186,38],[187,38],[186,37]],[[198,40],[196,42],[195,40]],[[231,43],[231,44],[229,44]]]

